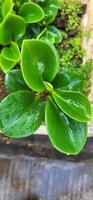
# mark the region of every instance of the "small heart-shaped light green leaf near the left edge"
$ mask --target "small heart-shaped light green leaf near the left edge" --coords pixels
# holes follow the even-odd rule
[[[6,60],[18,62],[20,59],[20,50],[15,42],[11,42],[10,47],[3,48],[1,54]]]

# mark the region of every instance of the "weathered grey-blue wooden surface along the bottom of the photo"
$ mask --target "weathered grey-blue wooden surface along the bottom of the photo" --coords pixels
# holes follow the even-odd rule
[[[32,194],[38,200],[92,200],[93,160],[75,163],[0,154],[0,200],[28,200]]]

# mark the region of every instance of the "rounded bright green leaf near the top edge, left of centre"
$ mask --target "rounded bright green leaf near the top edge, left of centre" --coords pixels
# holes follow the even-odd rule
[[[19,15],[25,19],[26,23],[36,23],[44,18],[42,8],[33,2],[24,3],[20,7]]]

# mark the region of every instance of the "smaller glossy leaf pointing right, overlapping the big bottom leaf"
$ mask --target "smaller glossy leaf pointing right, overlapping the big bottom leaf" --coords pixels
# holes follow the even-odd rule
[[[85,95],[65,90],[55,90],[52,94],[60,109],[72,119],[81,122],[92,120],[91,104]]]

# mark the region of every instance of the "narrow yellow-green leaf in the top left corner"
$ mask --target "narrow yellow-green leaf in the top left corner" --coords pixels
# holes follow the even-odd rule
[[[4,0],[2,4],[2,17],[5,18],[6,15],[12,11],[13,9],[13,1],[12,0]]]

